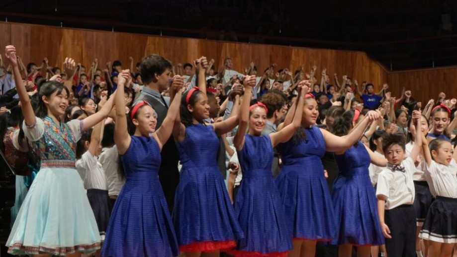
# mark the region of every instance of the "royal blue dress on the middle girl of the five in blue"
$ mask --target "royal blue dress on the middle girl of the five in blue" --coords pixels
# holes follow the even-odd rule
[[[246,256],[246,251],[263,257],[281,252],[286,256],[292,249],[292,235],[272,174],[273,156],[269,135],[245,136],[238,153],[243,179],[235,199],[235,212],[245,238],[237,241],[235,256]]]

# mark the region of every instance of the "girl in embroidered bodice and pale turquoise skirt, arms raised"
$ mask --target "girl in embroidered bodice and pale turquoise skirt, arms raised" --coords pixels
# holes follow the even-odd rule
[[[39,90],[36,115],[21,80],[14,46],[6,46],[24,115],[24,133],[41,168],[17,215],[6,246],[14,255],[79,256],[100,248],[97,224],[75,169],[76,142],[82,133],[105,118],[112,108],[111,97],[100,111],[84,120],[61,122],[68,106],[75,61],[66,59],[65,86],[45,82]]]

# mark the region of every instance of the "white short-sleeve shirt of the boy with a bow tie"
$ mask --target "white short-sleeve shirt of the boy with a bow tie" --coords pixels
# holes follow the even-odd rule
[[[392,171],[385,168],[377,177],[376,196],[385,195],[385,209],[390,210],[403,204],[413,204],[416,191],[414,189],[413,172],[416,169],[414,161],[408,157],[401,166],[405,172]],[[388,165],[388,167],[391,167]]]

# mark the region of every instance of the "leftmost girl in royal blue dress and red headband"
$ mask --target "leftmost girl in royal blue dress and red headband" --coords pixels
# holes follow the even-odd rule
[[[166,74],[170,76],[170,71],[166,71]],[[130,136],[124,112],[124,85],[128,78],[128,70],[118,75],[114,127],[114,142],[126,182],[111,213],[101,256],[177,256],[179,250],[175,228],[158,172],[160,151],[170,138],[179,115],[183,88],[173,88],[178,88],[177,93],[157,131],[154,109],[146,101],[134,104],[127,117],[135,126],[135,133]]]

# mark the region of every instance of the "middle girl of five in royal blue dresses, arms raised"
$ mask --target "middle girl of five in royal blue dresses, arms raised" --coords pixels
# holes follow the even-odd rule
[[[307,81],[298,85],[299,110],[303,108],[304,95],[310,85]],[[247,99],[252,87],[244,86],[244,99]],[[286,257],[287,251],[292,249],[292,235],[286,226],[284,207],[271,170],[273,147],[292,137],[300,127],[303,112],[296,111],[293,122],[280,132],[261,136],[267,124],[267,112],[267,106],[261,102],[249,107],[249,102],[243,101],[240,123],[233,139],[243,170],[235,212],[245,235],[237,241],[236,251],[231,252],[235,257]]]

